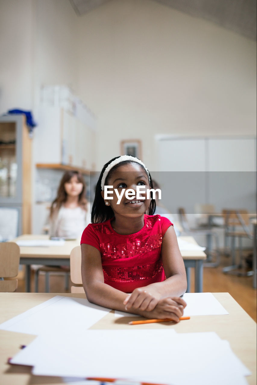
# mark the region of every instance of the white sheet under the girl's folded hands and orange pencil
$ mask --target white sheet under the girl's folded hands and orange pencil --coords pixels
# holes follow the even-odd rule
[[[187,303],[187,306],[184,309],[184,317],[228,314],[227,310],[223,308],[212,293],[185,293],[182,298]],[[115,310],[115,317],[121,316],[136,317],[135,314]]]

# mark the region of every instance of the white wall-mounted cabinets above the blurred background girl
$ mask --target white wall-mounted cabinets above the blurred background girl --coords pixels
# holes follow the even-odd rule
[[[37,167],[95,168],[95,131],[59,107],[42,106],[37,127]]]

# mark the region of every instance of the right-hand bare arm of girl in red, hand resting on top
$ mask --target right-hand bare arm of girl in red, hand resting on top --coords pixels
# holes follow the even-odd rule
[[[163,298],[185,293],[186,269],[173,226],[167,229],[162,238],[161,255],[166,280],[135,289],[124,301],[126,310],[135,308],[151,311]]]

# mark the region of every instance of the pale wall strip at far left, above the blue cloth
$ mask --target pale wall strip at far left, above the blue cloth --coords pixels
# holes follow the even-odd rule
[[[0,3],[0,114],[31,109],[32,0]]]

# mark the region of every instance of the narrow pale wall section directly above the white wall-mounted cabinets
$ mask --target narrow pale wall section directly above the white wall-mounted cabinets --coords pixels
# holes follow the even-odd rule
[[[46,85],[78,85],[78,17],[68,0],[35,1],[35,99]]]

